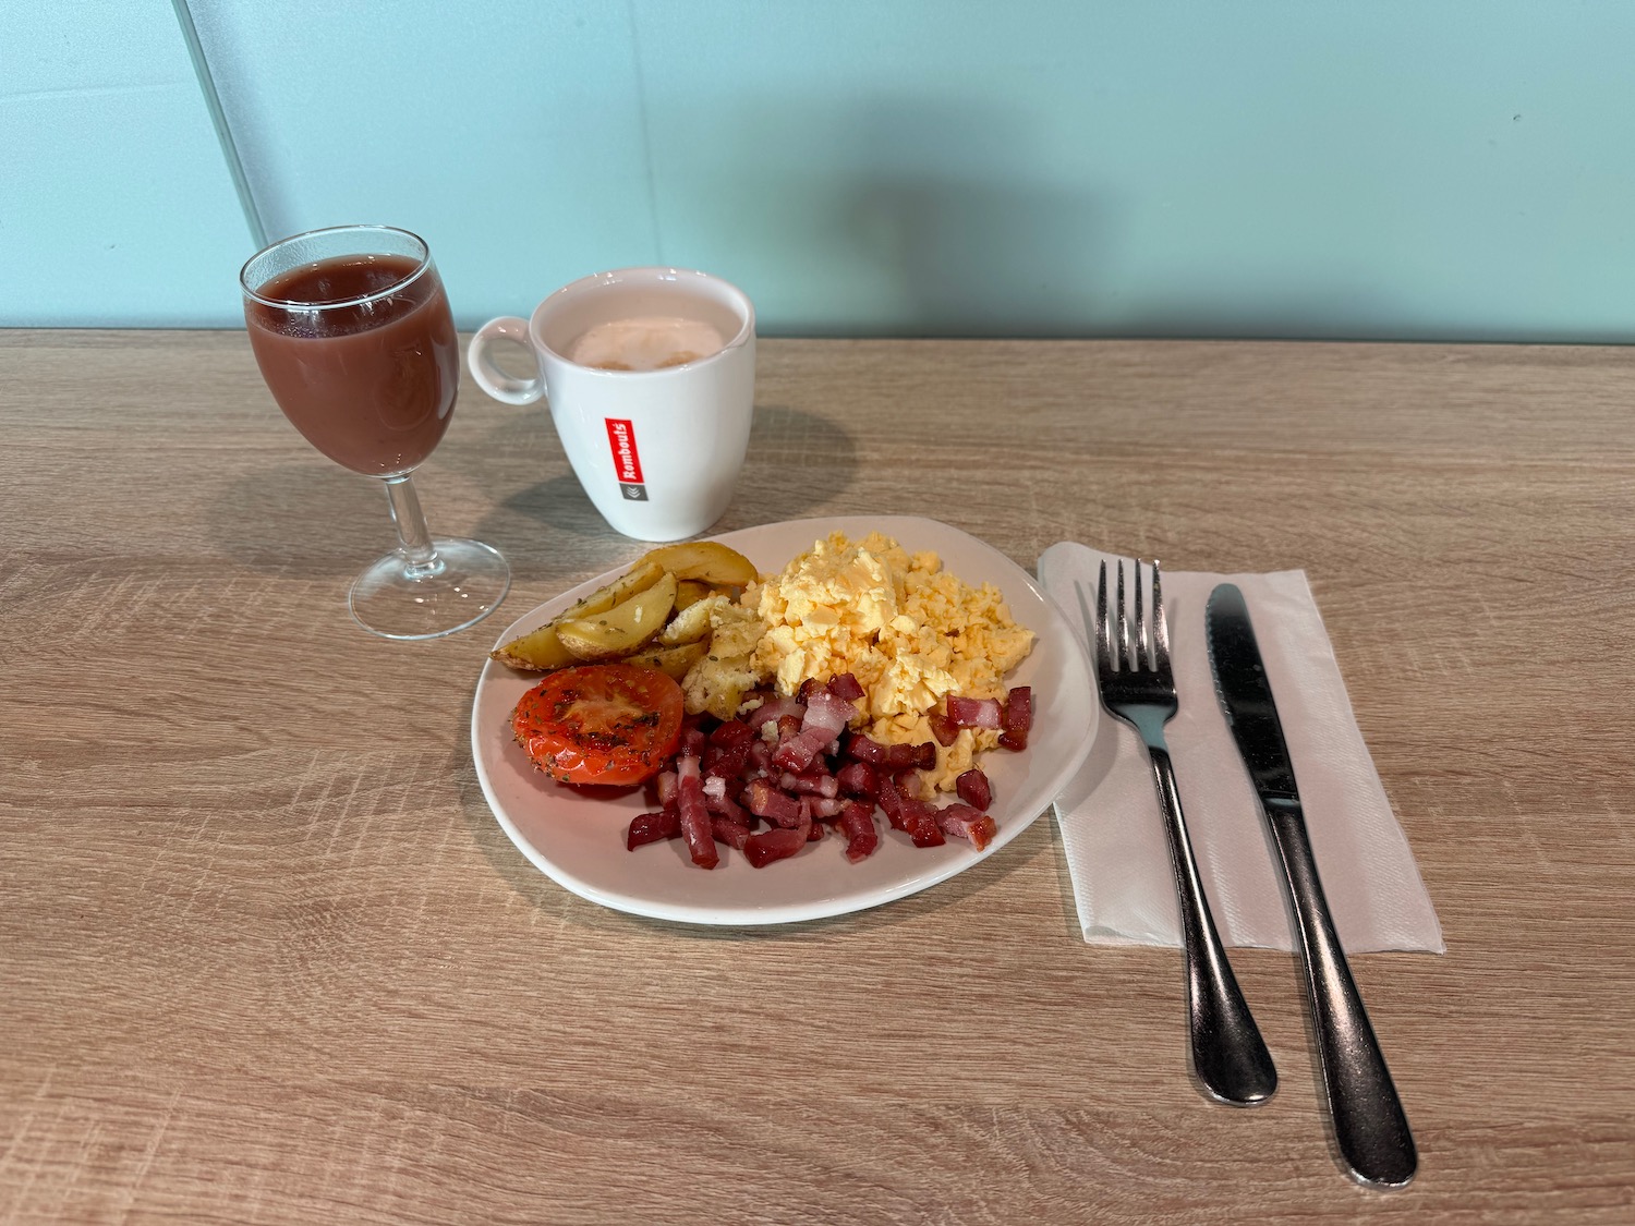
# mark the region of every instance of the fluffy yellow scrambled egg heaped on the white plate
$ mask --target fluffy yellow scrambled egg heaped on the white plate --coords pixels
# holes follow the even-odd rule
[[[973,588],[937,554],[909,554],[880,533],[818,541],[783,574],[747,588],[744,606],[762,623],[755,673],[788,695],[808,677],[855,675],[863,731],[885,744],[935,744],[927,716],[945,695],[1004,698],[1006,673],[1033,649],[1033,631],[1010,620],[992,584]],[[929,786],[952,791],[997,742],[997,732],[960,729],[955,744],[937,745]]]

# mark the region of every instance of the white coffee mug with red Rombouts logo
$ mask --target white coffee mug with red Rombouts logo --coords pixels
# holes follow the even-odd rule
[[[587,343],[613,335],[616,345],[636,335],[626,325],[651,320],[688,320],[693,333],[708,325],[703,333],[719,348],[677,353],[677,365],[656,369],[589,365],[598,358]],[[538,376],[518,379],[494,365],[489,347],[500,337],[533,353]],[[741,289],[685,268],[597,273],[558,289],[526,322],[490,319],[466,361],[495,400],[546,397],[579,484],[625,536],[679,541],[726,512],[755,396],[755,309]]]

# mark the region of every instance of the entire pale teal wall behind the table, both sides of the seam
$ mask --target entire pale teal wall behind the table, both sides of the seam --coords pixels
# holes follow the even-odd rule
[[[0,15],[0,324],[231,325],[168,5]],[[597,268],[768,335],[1625,342],[1627,0],[191,0],[267,232],[425,234],[464,325]]]

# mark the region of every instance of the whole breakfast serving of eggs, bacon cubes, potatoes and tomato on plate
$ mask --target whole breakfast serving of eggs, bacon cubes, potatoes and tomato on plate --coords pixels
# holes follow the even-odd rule
[[[1027,747],[1033,695],[1007,675],[1033,641],[937,554],[832,533],[770,575],[711,541],[654,549],[494,659],[551,670],[512,721],[546,775],[652,781],[631,850],[682,839],[714,868],[719,843],[759,868],[829,830],[862,860],[876,809],[916,847],[986,847],[979,758]]]

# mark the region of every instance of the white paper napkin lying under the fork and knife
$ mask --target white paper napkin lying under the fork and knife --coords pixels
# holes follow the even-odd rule
[[[1102,554],[1050,546],[1038,579],[1094,659]],[[1216,584],[1243,588],[1295,763],[1311,852],[1347,951],[1442,953],[1442,927],[1419,879],[1346,696],[1328,631],[1301,570],[1262,575],[1164,572],[1180,711],[1164,736],[1192,850],[1226,945],[1293,948],[1282,870],[1259,801],[1215,696],[1203,608]],[[1087,942],[1180,945],[1179,904],[1146,750],[1105,708],[1091,757],[1056,798],[1056,821]]]

